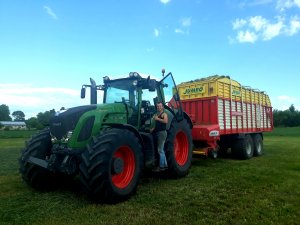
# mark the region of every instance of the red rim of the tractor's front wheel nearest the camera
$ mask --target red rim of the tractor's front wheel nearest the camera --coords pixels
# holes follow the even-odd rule
[[[124,167],[121,173],[112,175],[112,182],[117,188],[126,188],[131,182],[135,172],[134,154],[130,147],[121,146],[113,157],[121,158],[124,162]]]

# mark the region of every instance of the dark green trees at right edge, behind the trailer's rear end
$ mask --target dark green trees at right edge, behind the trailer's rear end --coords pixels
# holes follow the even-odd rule
[[[295,109],[294,105],[285,111],[275,109],[273,121],[275,127],[297,127],[300,126],[300,112]]]

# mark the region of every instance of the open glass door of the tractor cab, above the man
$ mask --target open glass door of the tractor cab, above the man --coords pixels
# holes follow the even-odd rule
[[[170,112],[176,117],[177,121],[183,119],[183,111],[181,108],[181,102],[179,93],[173,78],[172,73],[168,73],[161,81],[161,96],[163,102],[168,106]]]

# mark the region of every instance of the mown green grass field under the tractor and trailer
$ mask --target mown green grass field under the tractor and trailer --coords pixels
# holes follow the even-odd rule
[[[75,184],[32,190],[20,178],[23,134],[0,133],[0,224],[300,224],[300,127],[278,128],[247,161],[193,160],[187,177],[147,175],[117,205],[90,202]],[[9,138],[13,136],[14,138]]]

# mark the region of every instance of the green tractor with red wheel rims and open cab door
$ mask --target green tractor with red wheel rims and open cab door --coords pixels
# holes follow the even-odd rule
[[[164,71],[163,71],[164,75]],[[155,104],[168,114],[165,153],[170,177],[188,173],[192,160],[192,122],[182,111],[171,73],[161,81],[132,72],[126,78],[103,78],[103,85],[83,85],[91,104],[70,108],[50,120],[49,128],[34,135],[22,150],[20,173],[37,190],[47,190],[61,179],[79,177],[96,202],[116,203],[136,191],[143,170],[157,165],[150,133]],[[101,93],[97,93],[100,91]],[[103,104],[97,104],[97,94]]]

